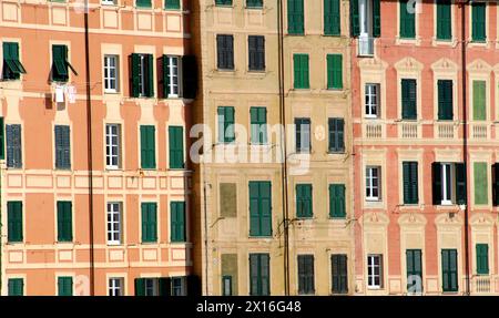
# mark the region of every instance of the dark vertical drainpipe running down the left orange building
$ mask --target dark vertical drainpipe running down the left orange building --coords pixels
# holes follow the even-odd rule
[[[90,92],[89,0],[84,8],[85,28],[85,91],[86,91],[86,162],[89,168],[89,240],[90,240],[90,296],[95,295],[95,265],[93,246],[93,162],[92,162],[92,101]]]

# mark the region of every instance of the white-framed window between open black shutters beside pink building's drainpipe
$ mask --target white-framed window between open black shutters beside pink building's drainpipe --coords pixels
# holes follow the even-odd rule
[[[466,170],[462,163],[432,163],[434,205],[466,204]]]

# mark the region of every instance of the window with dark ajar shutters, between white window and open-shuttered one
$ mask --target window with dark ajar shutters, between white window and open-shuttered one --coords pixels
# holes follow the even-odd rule
[[[154,96],[154,58],[152,54],[133,53],[131,92],[132,98]]]

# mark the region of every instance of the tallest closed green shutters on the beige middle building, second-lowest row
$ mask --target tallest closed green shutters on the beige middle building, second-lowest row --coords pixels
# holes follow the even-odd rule
[[[249,182],[249,236],[272,236],[271,182]]]

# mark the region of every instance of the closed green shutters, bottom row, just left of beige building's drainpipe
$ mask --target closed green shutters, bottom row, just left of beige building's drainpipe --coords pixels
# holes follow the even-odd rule
[[[249,254],[249,295],[271,295],[271,268],[268,254]]]

